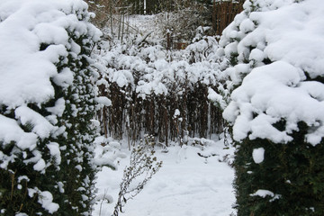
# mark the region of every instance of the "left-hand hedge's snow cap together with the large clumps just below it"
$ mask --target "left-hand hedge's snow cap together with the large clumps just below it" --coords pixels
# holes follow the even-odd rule
[[[58,74],[56,64],[67,61],[69,50],[74,55],[80,52],[80,46],[69,39],[68,31],[99,39],[100,31],[85,22],[90,17],[82,17],[86,8],[83,1],[72,0],[0,2],[0,107],[10,110],[21,106],[15,110],[16,117],[32,121],[32,132],[41,139],[57,128],[26,104],[45,103],[54,96],[50,78],[59,86],[72,84],[72,72],[66,68]],[[14,140],[23,149],[34,148],[34,133],[23,132],[15,121],[3,115],[0,118],[0,128],[4,129],[1,141]]]

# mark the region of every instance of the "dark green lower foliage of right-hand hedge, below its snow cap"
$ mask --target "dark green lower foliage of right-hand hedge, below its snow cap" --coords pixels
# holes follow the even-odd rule
[[[322,215],[324,148],[323,142],[314,147],[304,141],[308,129],[300,122],[288,143],[245,139],[236,144],[238,215]],[[252,157],[256,148],[265,149],[260,164]]]

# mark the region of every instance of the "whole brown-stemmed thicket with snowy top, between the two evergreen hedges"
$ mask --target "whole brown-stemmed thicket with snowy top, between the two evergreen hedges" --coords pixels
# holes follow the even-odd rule
[[[206,137],[222,130],[221,111],[207,98],[220,76],[215,39],[206,37],[170,56],[160,46],[102,47],[97,85],[112,104],[103,108],[103,130],[115,139],[138,139],[145,132],[167,143],[185,133]]]

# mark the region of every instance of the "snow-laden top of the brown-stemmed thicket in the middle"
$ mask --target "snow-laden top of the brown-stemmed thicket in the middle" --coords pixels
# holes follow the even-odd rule
[[[120,88],[130,87],[143,99],[173,91],[182,94],[184,86],[192,88],[198,82],[216,85],[220,76],[217,48],[217,41],[206,37],[181,50],[181,58],[168,61],[166,50],[160,46],[125,49],[117,44],[110,50],[105,48],[94,65],[103,74],[98,85],[108,85],[109,81]]]

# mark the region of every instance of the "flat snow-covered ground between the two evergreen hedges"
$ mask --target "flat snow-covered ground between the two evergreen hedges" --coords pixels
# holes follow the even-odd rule
[[[99,201],[93,215],[112,215],[119,193],[119,184],[124,166],[128,166],[130,152],[126,144],[121,151],[127,157],[121,158],[117,171],[108,167],[97,175],[99,195],[113,198],[112,203]],[[164,153],[157,148],[156,156],[163,161],[161,169],[144,189],[123,208],[125,216],[226,216],[234,210],[235,194],[232,188],[233,169],[222,162],[229,159],[233,149],[226,149],[224,141],[206,140],[202,146],[173,146]],[[211,157],[201,157],[211,156]]]

